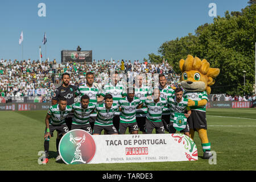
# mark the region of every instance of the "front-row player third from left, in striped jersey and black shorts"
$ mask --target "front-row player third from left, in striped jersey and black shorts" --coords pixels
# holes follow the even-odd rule
[[[115,112],[119,111],[119,106],[113,104],[113,97],[111,94],[105,95],[105,102],[96,106],[97,117],[95,119],[93,135],[100,135],[102,130],[106,134],[117,135],[118,131],[113,125],[113,118]]]

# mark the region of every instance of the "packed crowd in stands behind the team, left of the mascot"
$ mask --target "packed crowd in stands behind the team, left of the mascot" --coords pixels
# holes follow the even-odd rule
[[[167,77],[168,85],[180,86],[180,75],[177,75],[168,63],[151,64],[138,60],[123,61],[125,69],[121,70],[121,61],[93,60],[92,64],[57,63],[53,61],[24,61],[0,60],[0,93],[2,97],[19,96],[51,96],[57,85],[61,84],[61,75],[68,72],[71,84],[79,86],[85,84],[86,72],[93,72],[95,82],[103,86],[112,71],[125,73],[127,77],[145,73],[154,76],[163,73]]]

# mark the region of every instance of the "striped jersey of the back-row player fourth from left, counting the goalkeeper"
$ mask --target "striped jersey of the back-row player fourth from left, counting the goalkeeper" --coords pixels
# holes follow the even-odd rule
[[[149,86],[142,85],[141,88],[135,87],[135,97],[138,97],[143,103],[147,100],[147,96],[150,96]],[[147,107],[143,106],[141,109],[137,109],[136,117],[146,117]]]

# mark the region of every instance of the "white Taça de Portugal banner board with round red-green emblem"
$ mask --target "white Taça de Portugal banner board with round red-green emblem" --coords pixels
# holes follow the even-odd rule
[[[198,160],[196,144],[184,134],[90,135],[71,130],[61,138],[59,151],[66,164]]]

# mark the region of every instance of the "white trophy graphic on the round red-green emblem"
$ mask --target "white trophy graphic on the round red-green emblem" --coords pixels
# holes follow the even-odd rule
[[[81,143],[84,143],[85,141],[85,135],[83,135],[82,137],[75,137],[73,138],[73,135],[70,134],[69,135],[69,141],[72,142],[73,144],[76,144],[76,151],[75,151],[75,156],[71,162],[71,164],[73,162],[81,162],[81,163],[86,163],[84,160],[82,160],[82,154],[81,154],[81,150],[79,150],[79,147],[81,146]]]

